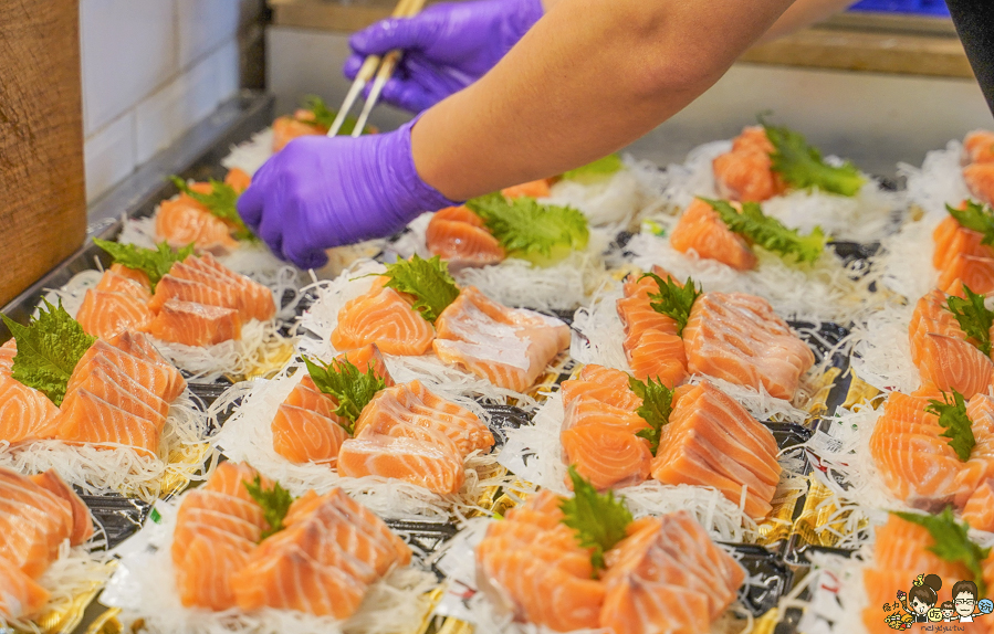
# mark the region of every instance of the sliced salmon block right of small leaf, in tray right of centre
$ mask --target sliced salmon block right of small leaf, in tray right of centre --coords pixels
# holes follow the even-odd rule
[[[779,482],[777,451],[768,429],[704,381],[677,390],[651,473],[663,484],[713,487],[735,504],[745,489],[745,511],[758,519]]]

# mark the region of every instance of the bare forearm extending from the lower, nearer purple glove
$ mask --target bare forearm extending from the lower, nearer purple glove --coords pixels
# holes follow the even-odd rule
[[[414,128],[453,200],[618,150],[710,87],[791,0],[558,0],[490,73]]]

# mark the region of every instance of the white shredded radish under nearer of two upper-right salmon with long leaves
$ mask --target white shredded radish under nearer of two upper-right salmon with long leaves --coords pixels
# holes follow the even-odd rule
[[[653,222],[669,235],[676,219],[656,216]],[[692,277],[705,292],[763,297],[785,319],[847,324],[880,302],[880,296],[870,292],[876,270],[857,276],[856,264],[846,266],[830,246],[809,265],[788,264],[775,253],[757,249],[758,265],[753,271],[736,271],[716,260],[698,257],[694,252],[681,253],[670,245],[669,237],[646,229],[632,236],[625,251],[632,254],[629,261],[639,268],[649,271],[659,265],[681,282]]]

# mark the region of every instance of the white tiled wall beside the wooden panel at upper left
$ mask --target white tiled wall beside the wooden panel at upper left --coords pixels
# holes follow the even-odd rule
[[[100,198],[239,85],[239,0],[82,0],[86,198]]]

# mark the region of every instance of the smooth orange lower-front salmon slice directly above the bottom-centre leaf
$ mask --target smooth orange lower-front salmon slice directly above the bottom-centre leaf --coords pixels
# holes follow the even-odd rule
[[[649,477],[652,454],[648,442],[603,423],[582,425],[559,434],[563,458],[598,490],[636,485]]]

